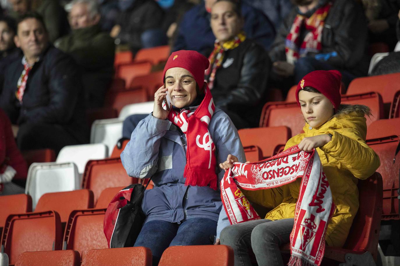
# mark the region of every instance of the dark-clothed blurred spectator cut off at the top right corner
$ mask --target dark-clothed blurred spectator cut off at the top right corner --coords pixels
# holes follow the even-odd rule
[[[362,0],[368,19],[370,42],[384,42],[390,51],[397,43],[396,23],[400,0]]]

